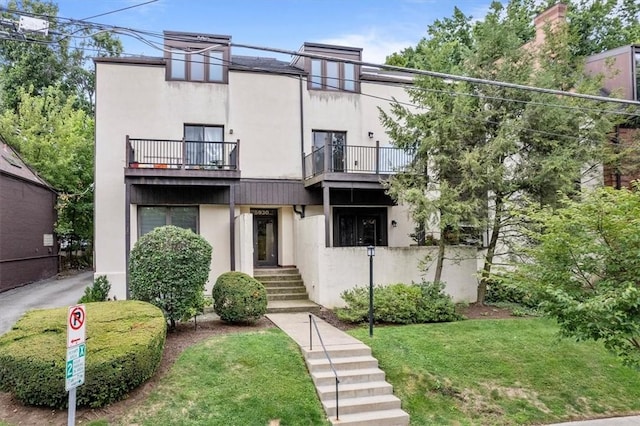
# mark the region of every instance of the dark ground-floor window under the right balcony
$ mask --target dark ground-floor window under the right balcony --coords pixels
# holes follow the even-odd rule
[[[386,246],[387,209],[372,207],[334,207],[333,245]]]

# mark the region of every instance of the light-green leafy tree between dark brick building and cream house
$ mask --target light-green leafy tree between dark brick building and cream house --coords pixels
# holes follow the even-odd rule
[[[59,193],[56,233],[93,236],[93,118],[59,87],[18,90],[17,111],[0,115],[0,134]]]

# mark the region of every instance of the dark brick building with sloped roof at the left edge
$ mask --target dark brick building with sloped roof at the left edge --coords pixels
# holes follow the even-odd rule
[[[0,140],[0,292],[58,272],[56,192]]]

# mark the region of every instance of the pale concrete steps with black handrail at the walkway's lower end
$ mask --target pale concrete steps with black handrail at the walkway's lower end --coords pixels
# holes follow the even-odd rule
[[[329,339],[330,340],[330,339]],[[320,343],[313,350],[302,347],[307,368],[329,420],[334,425],[408,425],[409,415],[400,408],[400,399],[385,381],[378,360],[363,343],[327,344],[338,384],[336,419],[336,379]]]

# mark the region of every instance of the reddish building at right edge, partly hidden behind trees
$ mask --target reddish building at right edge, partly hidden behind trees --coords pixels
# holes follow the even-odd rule
[[[622,46],[587,58],[588,73],[603,74],[603,91],[609,95],[640,101],[640,45]],[[640,144],[640,119],[629,120],[616,127],[613,143],[625,149]],[[629,187],[640,178],[640,153],[636,149],[624,155],[618,164],[603,167],[603,183],[614,188]]]

